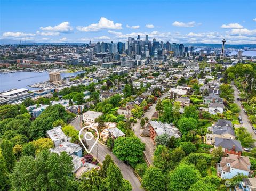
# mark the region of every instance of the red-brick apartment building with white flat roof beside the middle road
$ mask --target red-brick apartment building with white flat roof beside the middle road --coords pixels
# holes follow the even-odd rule
[[[181,137],[181,132],[173,123],[161,123],[159,121],[149,121],[148,123],[150,138],[155,144],[155,137],[163,134],[167,134],[169,137],[174,136],[175,138]]]

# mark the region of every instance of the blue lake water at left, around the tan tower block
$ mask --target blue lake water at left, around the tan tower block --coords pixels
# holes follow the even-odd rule
[[[61,73],[61,78],[68,76],[76,76],[82,72],[75,73]],[[20,81],[18,81],[20,79]],[[4,90],[9,90],[13,88],[27,88],[34,90],[35,88],[30,88],[27,85],[44,82],[49,80],[48,72],[15,72],[15,73],[0,73],[0,92]]]

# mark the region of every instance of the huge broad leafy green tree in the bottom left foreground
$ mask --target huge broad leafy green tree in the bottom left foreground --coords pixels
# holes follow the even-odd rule
[[[10,174],[13,190],[67,190],[73,170],[72,158],[66,152],[44,150],[34,159],[21,157]]]

